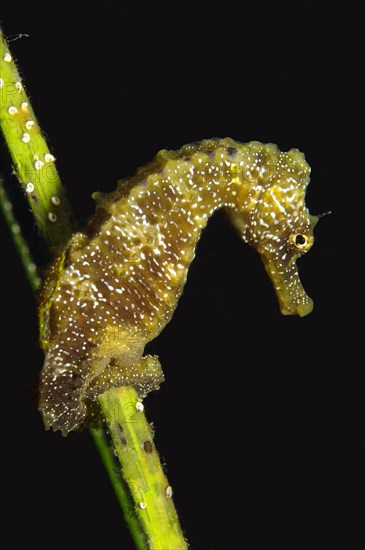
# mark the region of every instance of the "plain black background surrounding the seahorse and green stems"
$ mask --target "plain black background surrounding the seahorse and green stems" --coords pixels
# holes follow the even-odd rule
[[[311,212],[333,211],[299,262],[311,315],[280,315],[258,256],[217,214],[151,345],[166,381],[145,405],[191,548],[361,548],[361,3],[121,5],[1,13],[6,35],[30,35],[12,52],[83,222],[93,191],[212,136],[298,147]],[[3,156],[15,187],[10,170]],[[2,544],[133,548],[89,434],[43,429],[34,301],[0,223]]]

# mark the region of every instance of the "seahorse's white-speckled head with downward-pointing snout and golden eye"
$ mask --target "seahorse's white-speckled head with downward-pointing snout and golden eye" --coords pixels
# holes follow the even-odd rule
[[[318,217],[305,205],[310,167],[297,149],[277,151],[270,177],[255,186],[255,206],[246,217],[232,216],[242,238],[261,256],[284,315],[308,315],[313,301],[298,275],[297,259],[313,244]],[[244,220],[244,222],[243,222]]]

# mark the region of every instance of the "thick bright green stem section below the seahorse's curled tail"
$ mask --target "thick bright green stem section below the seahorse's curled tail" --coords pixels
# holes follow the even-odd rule
[[[131,387],[105,392],[99,401],[149,547],[183,550],[187,543],[162,470],[143,404]],[[160,518],[164,518],[163,521]]]

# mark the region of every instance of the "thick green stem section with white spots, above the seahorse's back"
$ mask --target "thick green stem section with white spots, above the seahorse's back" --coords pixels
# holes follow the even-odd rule
[[[75,230],[72,212],[1,29],[0,125],[38,231],[55,253]]]

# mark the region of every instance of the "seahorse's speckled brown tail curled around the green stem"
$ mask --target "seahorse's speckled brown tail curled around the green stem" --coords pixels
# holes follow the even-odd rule
[[[132,345],[132,343],[134,345]],[[63,436],[85,427],[98,427],[100,394],[134,386],[141,397],[157,389],[164,376],[158,358],[141,357],[143,348],[132,337],[105,338],[94,353],[77,357],[53,342],[46,351],[39,384],[39,410],[46,429]]]

